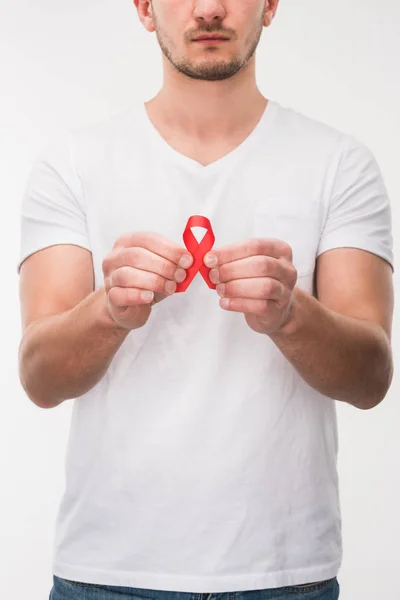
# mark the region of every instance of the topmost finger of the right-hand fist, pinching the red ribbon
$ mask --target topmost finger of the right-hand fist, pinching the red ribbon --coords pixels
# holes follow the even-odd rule
[[[207,267],[216,267],[233,260],[240,260],[256,255],[272,256],[273,258],[286,258],[292,261],[292,248],[283,240],[273,238],[253,238],[224,248],[212,249],[204,256]],[[210,256],[215,256],[217,262],[210,262]]]

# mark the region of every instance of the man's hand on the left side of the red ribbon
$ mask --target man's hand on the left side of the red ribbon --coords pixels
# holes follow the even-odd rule
[[[153,304],[175,292],[176,282],[184,281],[192,263],[186,248],[158,233],[120,235],[102,262],[111,317],[126,329],[142,327]]]

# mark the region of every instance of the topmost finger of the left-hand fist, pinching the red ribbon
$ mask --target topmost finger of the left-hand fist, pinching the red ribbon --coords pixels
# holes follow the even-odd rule
[[[185,248],[175,244],[175,242],[158,233],[149,231],[123,233],[116,240],[113,249],[132,247],[150,250],[150,252],[153,252],[161,258],[167,259],[184,269],[187,269],[193,263],[192,255]],[[186,263],[182,263],[184,257],[188,257]]]

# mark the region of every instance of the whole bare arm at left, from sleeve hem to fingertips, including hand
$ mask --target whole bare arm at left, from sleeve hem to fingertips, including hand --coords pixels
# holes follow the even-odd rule
[[[88,250],[64,244],[28,257],[20,270],[19,374],[29,398],[51,408],[89,391],[129,332],[185,279],[182,259],[186,268],[193,262],[159,234],[122,234],[103,259],[104,286],[93,291]]]

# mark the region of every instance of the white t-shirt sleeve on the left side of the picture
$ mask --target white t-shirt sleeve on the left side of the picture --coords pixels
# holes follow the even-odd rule
[[[91,250],[81,181],[69,131],[47,145],[29,171],[20,208],[19,274],[34,252],[57,244]]]

